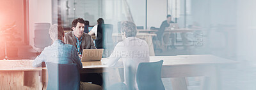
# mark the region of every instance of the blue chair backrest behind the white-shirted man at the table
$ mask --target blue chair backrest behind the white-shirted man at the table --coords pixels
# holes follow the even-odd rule
[[[136,73],[136,81],[140,90],[164,90],[161,79],[163,60],[140,63]]]

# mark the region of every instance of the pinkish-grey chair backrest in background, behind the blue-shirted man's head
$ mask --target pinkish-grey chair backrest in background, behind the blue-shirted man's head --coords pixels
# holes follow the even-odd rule
[[[52,43],[52,39],[49,35],[50,23],[35,23],[35,38],[34,46],[36,48],[45,48]]]

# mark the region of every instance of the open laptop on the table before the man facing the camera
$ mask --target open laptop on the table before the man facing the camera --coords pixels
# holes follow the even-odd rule
[[[100,61],[104,49],[83,49],[82,61]]]

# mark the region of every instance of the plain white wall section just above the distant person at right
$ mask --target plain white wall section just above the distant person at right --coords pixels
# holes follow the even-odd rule
[[[147,0],[147,27],[160,27],[166,15],[167,0]]]

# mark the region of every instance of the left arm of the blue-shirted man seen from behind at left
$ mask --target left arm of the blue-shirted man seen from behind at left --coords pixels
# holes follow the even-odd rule
[[[42,63],[45,61],[45,55],[44,51],[38,56],[36,56],[36,59],[33,61],[33,67],[42,67]]]

